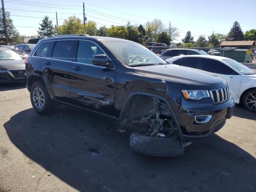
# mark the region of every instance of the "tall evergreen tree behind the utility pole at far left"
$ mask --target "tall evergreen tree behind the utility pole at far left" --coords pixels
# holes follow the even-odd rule
[[[18,40],[17,38],[19,36],[19,33],[12,23],[12,19],[10,18],[10,12],[5,12],[5,16],[9,42],[16,42],[16,40]],[[4,19],[2,9],[0,9],[0,40],[5,41]]]

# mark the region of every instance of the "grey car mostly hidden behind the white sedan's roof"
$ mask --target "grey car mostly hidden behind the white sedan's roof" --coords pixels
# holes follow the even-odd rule
[[[197,49],[182,49],[182,48],[173,48],[173,49],[168,49],[162,52],[160,54],[160,57],[163,59],[168,59],[174,56],[179,56],[179,55],[208,55],[204,51],[200,51]]]

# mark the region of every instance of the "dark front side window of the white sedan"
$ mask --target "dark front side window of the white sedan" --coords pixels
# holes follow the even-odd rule
[[[202,70],[208,71],[211,73],[224,74],[224,75],[237,75],[237,73],[234,70],[232,70],[222,62],[219,62],[214,59],[203,58]]]

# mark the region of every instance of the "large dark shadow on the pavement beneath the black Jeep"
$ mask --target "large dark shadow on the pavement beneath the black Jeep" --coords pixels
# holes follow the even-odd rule
[[[79,191],[256,190],[256,159],[216,134],[183,156],[153,158],[132,152],[131,131],[112,119],[66,106],[48,116],[21,111],[4,127],[22,153]]]

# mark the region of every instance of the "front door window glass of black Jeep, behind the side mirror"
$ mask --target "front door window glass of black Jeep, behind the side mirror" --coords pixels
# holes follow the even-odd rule
[[[104,54],[98,45],[90,41],[79,41],[76,62],[92,64],[94,55]]]

